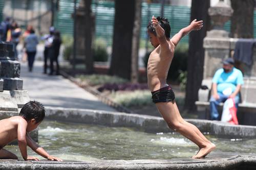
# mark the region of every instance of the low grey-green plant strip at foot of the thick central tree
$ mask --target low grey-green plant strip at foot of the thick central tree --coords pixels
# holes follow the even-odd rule
[[[87,82],[89,85],[101,85],[106,83],[122,84],[128,82],[126,79],[108,75],[78,75],[76,78]]]

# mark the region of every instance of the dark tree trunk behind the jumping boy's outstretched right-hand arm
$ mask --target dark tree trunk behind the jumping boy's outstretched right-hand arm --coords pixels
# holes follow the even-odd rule
[[[187,83],[184,108],[196,111],[195,102],[198,100],[198,90],[203,80],[204,48],[203,39],[210,26],[208,8],[209,0],[192,0],[190,22],[194,19],[203,20],[204,27],[189,34],[189,48],[187,59]]]

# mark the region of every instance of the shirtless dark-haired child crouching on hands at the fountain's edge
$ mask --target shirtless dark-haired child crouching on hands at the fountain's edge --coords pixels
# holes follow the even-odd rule
[[[48,160],[62,161],[49,155],[28,134],[28,132],[36,129],[44,118],[44,106],[38,102],[30,101],[20,110],[19,116],[0,120],[0,159],[18,159],[15,154],[3,149],[6,144],[17,139],[24,160],[39,160],[36,157],[28,156],[28,145],[34,152]]]

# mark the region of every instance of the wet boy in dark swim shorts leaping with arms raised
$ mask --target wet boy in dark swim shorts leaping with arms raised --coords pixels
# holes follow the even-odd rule
[[[190,31],[200,30],[202,27],[203,21],[195,19],[189,26],[170,38],[170,25],[166,18],[152,16],[151,22],[147,25],[151,44],[155,47],[147,63],[147,84],[152,91],[152,100],[170,129],[179,132],[198,145],[199,151],[192,158],[203,158],[216,146],[206,139],[196,126],[181,117],[175,103],[174,91],[166,83],[166,78],[174,57],[175,47],[181,38]]]

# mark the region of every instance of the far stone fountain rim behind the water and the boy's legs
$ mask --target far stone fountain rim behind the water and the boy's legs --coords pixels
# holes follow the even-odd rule
[[[131,127],[139,131],[157,133],[173,132],[162,117],[108,112],[103,110],[67,109],[46,107],[46,118],[60,122],[94,124],[109,127]],[[219,121],[186,119],[200,131],[224,138],[256,138],[256,126],[230,125]]]

